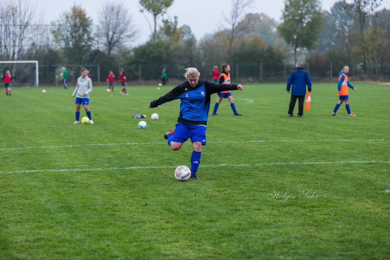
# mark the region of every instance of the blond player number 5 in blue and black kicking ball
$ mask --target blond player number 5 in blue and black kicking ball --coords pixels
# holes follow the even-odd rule
[[[149,108],[180,99],[180,113],[175,130],[164,135],[172,150],[179,150],[183,143],[191,138],[193,152],[191,155],[191,179],[200,180],[196,173],[200,164],[200,150],[206,145],[206,125],[210,110],[211,94],[227,90],[243,90],[241,85],[215,84],[199,80],[200,73],[196,68],[187,68],[183,75],[187,81],[176,86],[170,92],[149,103]]]

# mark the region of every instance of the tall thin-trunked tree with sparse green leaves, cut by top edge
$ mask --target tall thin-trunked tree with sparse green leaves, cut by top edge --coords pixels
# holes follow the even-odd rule
[[[153,16],[154,21],[154,30],[152,30],[152,27],[149,23],[149,20],[147,20],[149,24],[149,28],[152,32],[152,39],[153,41],[156,41],[157,38],[157,23],[158,19],[167,12],[167,9],[172,5],[174,0],[140,0],[140,5],[142,6],[142,9],[140,10],[142,13],[145,13],[145,11],[149,12]]]

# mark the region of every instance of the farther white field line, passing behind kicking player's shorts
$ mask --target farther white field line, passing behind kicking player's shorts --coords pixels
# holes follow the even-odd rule
[[[385,139],[335,139],[335,140],[250,140],[250,141],[207,141],[207,143],[262,143],[262,142],[316,142],[316,141],[387,141]],[[60,145],[60,146],[27,146],[27,147],[14,147],[14,148],[1,148],[0,151],[10,150],[23,150],[23,149],[50,149],[50,148],[67,148],[67,147],[81,147],[81,146],[115,146],[115,145],[156,145],[166,144],[167,142],[129,142],[129,143],[87,143],[84,145]]]

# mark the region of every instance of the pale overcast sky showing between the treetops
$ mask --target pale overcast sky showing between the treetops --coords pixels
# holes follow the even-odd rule
[[[103,0],[104,1],[104,0]],[[94,24],[98,24],[98,10],[103,5],[101,0],[32,0],[30,3],[37,3],[37,14],[44,14],[43,23],[49,24],[51,21],[58,19],[62,12],[69,12],[73,4],[82,5],[87,11],[87,15],[93,19]],[[139,11],[139,0],[121,0],[129,10],[129,15],[132,15],[135,26],[139,30],[139,36],[134,40],[132,46],[137,46],[146,42],[151,35],[151,31],[147,24],[145,16]],[[337,0],[322,0],[322,9],[330,10],[330,7],[337,2]],[[351,2],[351,0],[347,0]],[[55,3],[55,4],[54,4]],[[165,17],[177,16],[179,26],[189,25],[193,34],[199,41],[204,35],[217,32],[218,29],[225,27],[223,23],[222,10],[225,9],[229,13],[231,0],[174,0],[171,7],[169,7]],[[390,0],[383,0],[380,9],[390,9]],[[280,21],[282,16],[282,9],[284,8],[283,0],[254,0],[252,8],[248,12],[265,13],[271,18]],[[146,14],[146,17],[152,23],[152,16]],[[227,27],[227,26],[226,26]]]

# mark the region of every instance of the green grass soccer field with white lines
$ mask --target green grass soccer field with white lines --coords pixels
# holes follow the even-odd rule
[[[179,101],[147,109],[173,86],[94,87],[93,125],[73,124],[74,87],[3,91],[0,259],[389,259],[390,86],[353,85],[356,117],[331,116],[335,84],[313,84],[302,118],[285,84],[234,91],[242,117],[227,100],[211,117],[213,95],[184,183],[191,143],[163,139]]]

